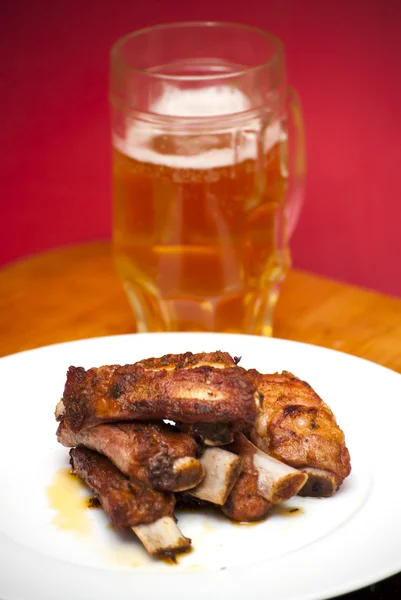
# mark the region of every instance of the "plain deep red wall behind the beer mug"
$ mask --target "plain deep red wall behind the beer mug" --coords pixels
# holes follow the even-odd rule
[[[401,296],[398,0],[2,4],[0,263],[110,237],[110,46],[187,19],[257,25],[285,42],[308,148],[294,264]]]

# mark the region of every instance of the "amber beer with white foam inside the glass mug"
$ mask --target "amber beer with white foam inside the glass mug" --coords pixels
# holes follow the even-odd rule
[[[227,112],[246,102],[236,92],[218,91]],[[164,114],[180,101],[184,115],[216,110],[191,94],[162,98]],[[268,115],[202,131],[138,118],[114,137],[114,253],[138,331],[271,334],[289,265],[286,153],[285,124]]]

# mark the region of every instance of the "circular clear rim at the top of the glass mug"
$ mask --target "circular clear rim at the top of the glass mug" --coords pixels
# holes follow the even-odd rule
[[[241,69],[237,69],[235,71],[230,71],[229,73],[217,73],[217,74],[199,74],[199,75],[170,75],[167,73],[158,73],[157,71],[153,71],[148,68],[138,68],[129,64],[126,60],[124,60],[121,55],[119,55],[120,49],[126,44],[129,40],[133,38],[140,37],[144,34],[151,33],[153,31],[160,30],[171,30],[185,27],[225,27],[233,30],[243,30],[253,32],[259,36],[262,36],[266,39],[269,39],[273,42],[273,45],[276,49],[275,54],[270,57],[268,60],[260,62],[254,66],[244,67]],[[242,23],[235,23],[230,21],[174,21],[172,23],[159,23],[157,25],[151,25],[149,27],[143,27],[141,29],[137,29],[127,33],[126,35],[119,38],[111,47],[110,56],[113,61],[120,63],[124,68],[133,73],[138,73],[142,75],[146,75],[147,77],[151,77],[154,79],[160,79],[164,81],[212,81],[212,80],[220,80],[220,79],[232,79],[233,77],[240,77],[241,75],[248,75],[249,73],[256,73],[262,69],[266,69],[271,67],[278,58],[282,58],[284,54],[284,45],[283,42],[277,36],[261,29],[260,27],[256,27],[253,25],[245,25]]]

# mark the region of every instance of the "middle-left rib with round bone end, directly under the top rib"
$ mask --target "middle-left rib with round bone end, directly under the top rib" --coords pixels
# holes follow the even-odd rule
[[[62,421],[57,439],[104,454],[122,473],[157,490],[187,490],[204,476],[195,440],[164,423],[112,423],[74,433]]]

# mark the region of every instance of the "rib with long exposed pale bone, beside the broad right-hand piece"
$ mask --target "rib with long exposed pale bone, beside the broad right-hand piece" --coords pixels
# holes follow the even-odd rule
[[[305,485],[305,473],[268,456],[242,434],[236,435],[229,450],[242,461],[240,476],[222,507],[234,521],[263,519],[274,504],[285,502]]]

